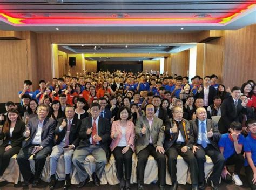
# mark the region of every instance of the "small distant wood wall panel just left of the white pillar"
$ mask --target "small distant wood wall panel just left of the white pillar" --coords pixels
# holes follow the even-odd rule
[[[171,55],[171,72],[169,75],[187,76],[187,70],[190,62],[190,51],[181,51]]]

